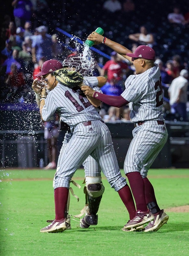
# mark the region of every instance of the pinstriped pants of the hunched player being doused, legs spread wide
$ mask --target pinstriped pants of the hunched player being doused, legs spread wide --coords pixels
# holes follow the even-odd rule
[[[91,121],[89,126],[77,124],[66,149],[61,148],[54,189],[69,188],[73,174],[89,155],[98,162],[115,191],[127,184],[126,178],[121,176],[108,127],[101,121]]]

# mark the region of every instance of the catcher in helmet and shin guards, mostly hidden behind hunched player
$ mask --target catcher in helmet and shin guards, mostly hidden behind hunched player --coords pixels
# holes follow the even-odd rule
[[[82,57],[76,55],[76,56],[68,56],[62,63],[63,68],[66,68],[67,70],[74,70],[79,72],[81,75],[84,76],[84,83],[85,85],[89,85],[91,88],[94,88],[98,85],[98,87],[102,87],[106,83],[106,78],[105,77],[91,77],[91,70],[87,67],[87,65],[83,65],[82,63]],[[65,150],[66,145],[70,141],[73,132],[70,131],[70,127],[63,123],[60,120],[60,127],[63,127],[62,129],[67,130],[65,134],[65,139],[63,141],[62,145],[62,152]],[[66,129],[65,129],[66,128]],[[101,170],[99,168],[99,165],[96,160],[94,160],[93,157],[88,156],[86,160],[83,162],[83,167],[85,171],[85,188],[84,193],[85,193],[85,199],[86,203],[86,214],[85,216],[80,219],[80,227],[81,228],[88,228],[90,225],[97,225],[98,223],[98,208],[102,199],[102,195],[98,195],[97,193],[91,193],[89,191],[89,187],[92,186],[92,184],[98,182],[102,186],[102,192],[104,191],[104,186],[102,184],[102,177],[101,177]],[[56,174],[55,174],[56,175]],[[101,193],[102,193],[101,192]],[[68,213],[68,208],[69,205],[67,205],[67,213]],[[91,219],[90,223],[87,223],[87,216],[91,215],[93,218]],[[86,222],[85,222],[86,219]]]

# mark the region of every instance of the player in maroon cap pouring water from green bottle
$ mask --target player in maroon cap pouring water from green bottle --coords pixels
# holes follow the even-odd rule
[[[144,232],[157,231],[169,216],[160,210],[152,184],[147,173],[154,159],[165,145],[168,134],[163,119],[163,93],[161,74],[154,64],[155,51],[147,45],[140,45],[135,52],[103,37],[96,32],[88,40],[95,44],[104,43],[131,61],[136,75],[125,81],[125,91],[120,96],[108,96],[82,86],[87,96],[93,96],[111,106],[121,107],[129,104],[130,118],[134,122],[133,139],[124,163],[124,171],[136,202],[136,216],[129,220],[123,231],[149,223]]]

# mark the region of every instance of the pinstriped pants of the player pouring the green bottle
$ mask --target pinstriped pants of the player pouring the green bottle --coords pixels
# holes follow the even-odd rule
[[[153,161],[167,141],[167,129],[165,124],[157,121],[145,121],[137,125],[133,130],[133,139],[124,162],[125,174],[138,171],[142,178],[147,176]]]

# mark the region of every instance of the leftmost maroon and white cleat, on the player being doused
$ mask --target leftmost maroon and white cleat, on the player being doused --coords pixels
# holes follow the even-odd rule
[[[40,232],[43,233],[57,233],[57,232],[63,232],[66,229],[71,229],[70,225],[70,218],[64,218],[62,220],[56,221],[56,220],[47,220],[47,222],[51,222],[48,226],[41,229]]]

